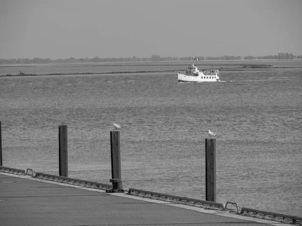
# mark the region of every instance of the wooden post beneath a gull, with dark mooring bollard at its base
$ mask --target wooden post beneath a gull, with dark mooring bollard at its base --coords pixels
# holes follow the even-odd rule
[[[120,158],[120,135],[119,131],[110,131],[110,146],[111,146],[111,174],[112,188],[106,192],[124,192],[121,176],[121,158]]]

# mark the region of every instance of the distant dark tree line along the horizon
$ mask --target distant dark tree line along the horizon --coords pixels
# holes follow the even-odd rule
[[[200,61],[206,60],[293,60],[302,59],[302,55],[294,56],[292,53],[278,53],[278,55],[268,55],[268,56],[217,56],[217,57],[203,57],[195,56]],[[120,57],[120,58],[74,58],[70,57],[68,59],[56,59],[52,60],[50,58],[18,58],[18,59],[0,59],[0,64],[51,64],[51,63],[101,63],[101,62],[159,62],[159,61],[190,61],[192,57],[161,57],[160,55],[152,55],[151,57],[138,58],[138,57]]]

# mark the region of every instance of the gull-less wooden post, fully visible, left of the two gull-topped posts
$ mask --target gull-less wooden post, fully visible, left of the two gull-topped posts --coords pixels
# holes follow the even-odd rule
[[[59,126],[59,176],[68,177],[67,126]]]

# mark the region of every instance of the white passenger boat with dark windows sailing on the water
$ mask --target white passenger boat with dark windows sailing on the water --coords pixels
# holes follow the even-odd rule
[[[204,70],[199,71],[197,67],[192,64],[188,67],[186,72],[177,73],[179,82],[212,82],[219,80],[219,70]]]

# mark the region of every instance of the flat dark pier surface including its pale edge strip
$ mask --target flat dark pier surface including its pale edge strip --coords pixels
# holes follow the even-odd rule
[[[1,226],[290,225],[7,173],[0,173],[0,222]]]

